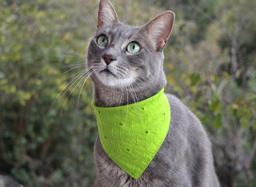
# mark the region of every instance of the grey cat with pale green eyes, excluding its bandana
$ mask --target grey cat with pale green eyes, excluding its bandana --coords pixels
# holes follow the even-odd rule
[[[100,0],[98,26],[87,48],[87,66],[99,107],[128,105],[157,94],[166,84],[163,49],[174,13],[163,12],[142,27],[120,23],[109,0]],[[137,179],[124,172],[95,142],[94,187],[219,187],[211,143],[197,117],[166,94],[171,121],[165,140]]]

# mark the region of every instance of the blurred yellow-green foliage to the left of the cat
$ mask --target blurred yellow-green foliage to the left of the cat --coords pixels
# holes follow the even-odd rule
[[[81,86],[73,90],[74,84],[53,104],[75,74],[61,73],[84,69],[73,64],[85,62],[77,54],[84,54],[88,40],[59,6],[67,4],[0,3],[0,160],[24,186],[88,186],[94,180],[91,91],[82,92],[77,105]],[[90,87],[87,82],[84,89]]]

